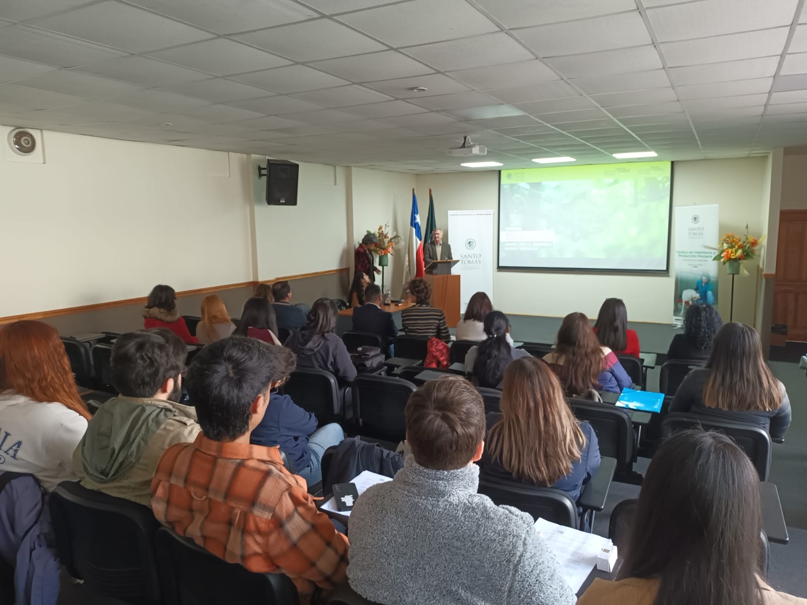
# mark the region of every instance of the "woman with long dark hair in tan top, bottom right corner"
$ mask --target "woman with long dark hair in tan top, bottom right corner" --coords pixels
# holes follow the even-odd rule
[[[729,437],[679,432],[650,461],[618,582],[578,605],[786,605],[759,576],[759,475]],[[352,565],[352,564],[351,564]]]

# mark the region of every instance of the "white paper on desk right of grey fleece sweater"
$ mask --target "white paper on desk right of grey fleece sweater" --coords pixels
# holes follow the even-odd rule
[[[608,538],[567,528],[546,519],[538,519],[535,528],[541,532],[547,548],[558,559],[563,577],[575,592],[580,590],[588,574],[596,567],[600,550],[611,545]]]

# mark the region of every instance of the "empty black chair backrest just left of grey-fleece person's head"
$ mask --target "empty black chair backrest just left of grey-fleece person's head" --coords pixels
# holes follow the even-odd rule
[[[359,435],[404,440],[403,410],[415,390],[417,387],[403,378],[359,374],[353,382],[353,417],[358,419]]]

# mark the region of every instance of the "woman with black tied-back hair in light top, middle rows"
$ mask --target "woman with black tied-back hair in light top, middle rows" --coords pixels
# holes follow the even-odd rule
[[[514,359],[530,357],[523,348],[513,348],[507,340],[510,323],[501,311],[491,311],[485,316],[487,339],[468,349],[465,356],[465,371],[477,386],[498,389],[504,370]]]

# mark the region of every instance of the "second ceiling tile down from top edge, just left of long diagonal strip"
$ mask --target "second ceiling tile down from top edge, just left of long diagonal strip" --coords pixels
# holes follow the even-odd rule
[[[597,19],[529,27],[514,33],[540,56],[573,55],[653,44],[638,10]]]

